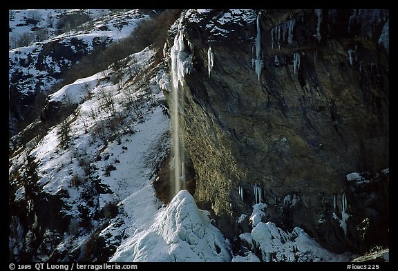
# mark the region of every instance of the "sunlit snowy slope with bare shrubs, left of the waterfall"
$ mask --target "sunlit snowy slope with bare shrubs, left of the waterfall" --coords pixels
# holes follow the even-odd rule
[[[107,260],[86,248],[87,242],[104,240],[102,250],[111,253],[122,237],[142,230],[160,206],[152,181],[159,163],[169,148],[169,119],[163,106],[164,96],[158,81],[163,64],[156,51],[146,48],[126,59],[122,77],[110,67],[91,77],[78,79],[49,97],[49,101],[78,103],[65,121],[50,128],[42,139],[35,139],[10,159],[10,175],[26,176],[29,165],[35,168],[37,181],[29,186],[25,177],[10,179],[12,208],[32,212],[34,221],[53,214],[40,212],[40,198],[58,199],[58,214],[66,232],[60,237],[54,229],[40,232],[13,210],[10,249],[15,259],[23,251],[33,251],[37,260]],[[120,70],[118,70],[120,72]],[[162,82],[164,84],[164,82]],[[27,165],[26,157],[31,164]],[[36,196],[33,196],[35,190]],[[15,211],[15,212],[14,212]],[[24,210],[23,212],[27,212]],[[44,212],[44,211],[43,211]],[[39,248],[20,245],[39,235]],[[94,241],[95,240],[95,241]],[[41,248],[43,246],[44,248]],[[53,251],[49,253],[48,251]],[[74,253],[70,253],[73,251]],[[105,253],[105,252],[102,252]]]

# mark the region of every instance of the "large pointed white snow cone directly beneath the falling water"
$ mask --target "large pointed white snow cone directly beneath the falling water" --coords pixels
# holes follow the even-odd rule
[[[120,245],[111,261],[231,261],[231,254],[222,233],[181,190],[148,230]]]

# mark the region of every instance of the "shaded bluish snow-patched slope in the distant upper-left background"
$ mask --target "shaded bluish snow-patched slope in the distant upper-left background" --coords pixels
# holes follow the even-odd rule
[[[71,66],[129,37],[138,23],[149,19],[141,10],[10,10],[9,14],[12,135],[19,132],[16,123],[25,121],[37,96],[55,91],[53,86],[61,83]]]

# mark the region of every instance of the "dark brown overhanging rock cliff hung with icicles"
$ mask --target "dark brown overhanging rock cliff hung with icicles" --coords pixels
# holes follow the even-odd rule
[[[211,206],[229,238],[257,197],[267,221],[300,226],[334,252],[374,245],[369,233],[363,243],[362,224],[385,242],[388,204],[377,199],[388,195],[388,176],[359,191],[345,175],[389,165],[388,10],[259,12],[182,15],[178,31],[194,49],[180,127],[198,203]]]

